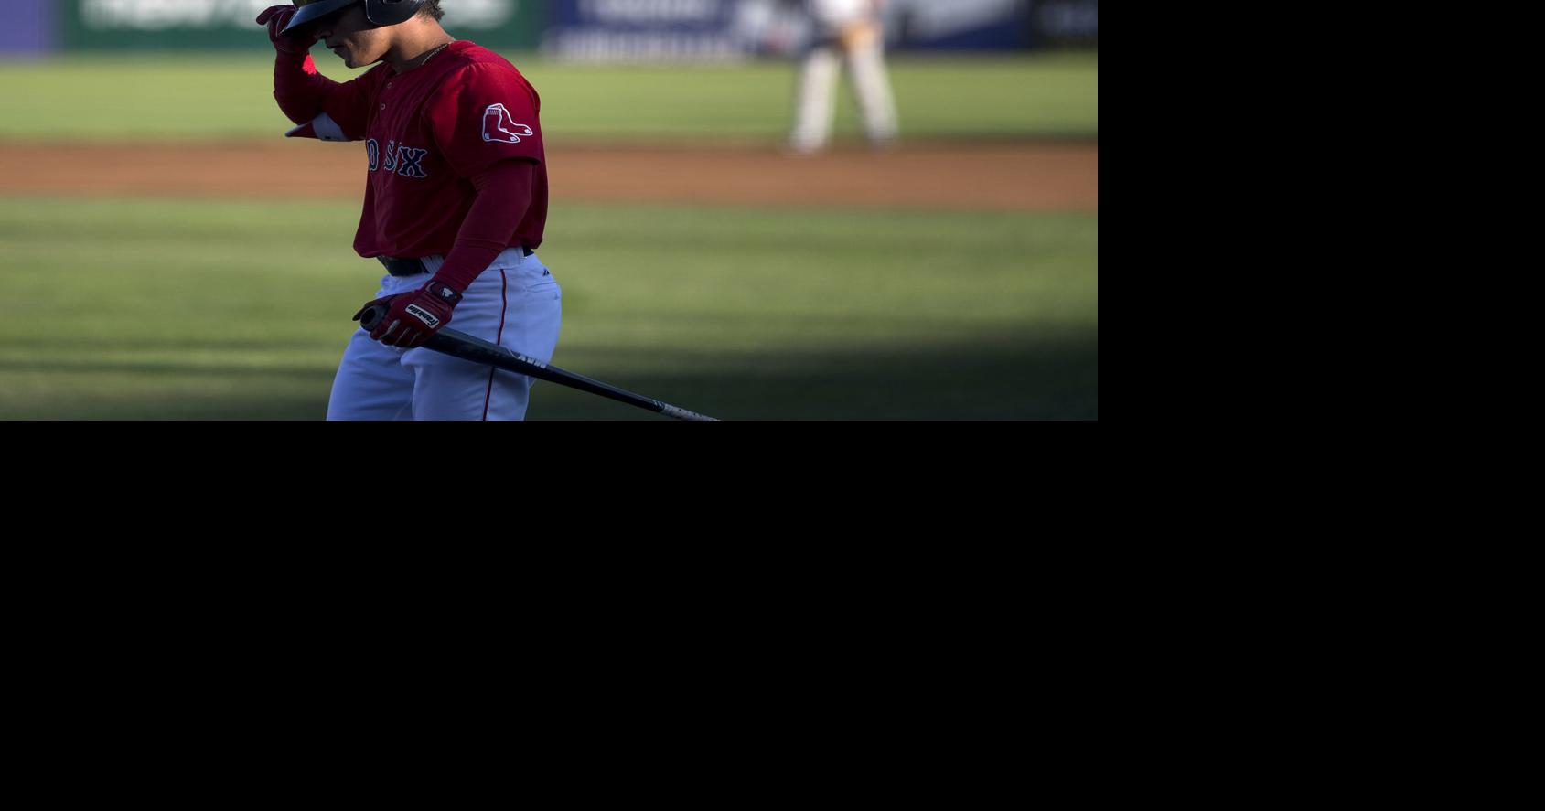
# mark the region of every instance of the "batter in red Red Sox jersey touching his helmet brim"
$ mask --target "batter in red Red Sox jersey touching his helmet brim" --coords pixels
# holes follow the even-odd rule
[[[501,56],[440,28],[439,0],[297,0],[258,15],[287,134],[363,141],[360,256],[386,267],[328,400],[329,420],[519,420],[531,378],[423,349],[453,320],[547,363],[562,292],[536,258],[547,222],[541,99]],[[323,42],[351,82],[317,73]]]

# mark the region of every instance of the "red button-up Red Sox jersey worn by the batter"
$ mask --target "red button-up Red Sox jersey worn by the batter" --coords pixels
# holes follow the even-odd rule
[[[334,88],[323,108],[351,141],[365,141],[369,182],[354,236],[360,256],[450,253],[476,198],[470,178],[511,158],[536,168],[531,204],[510,247],[542,243],[542,100],[499,54],[456,40],[403,74],[386,63],[371,68]]]

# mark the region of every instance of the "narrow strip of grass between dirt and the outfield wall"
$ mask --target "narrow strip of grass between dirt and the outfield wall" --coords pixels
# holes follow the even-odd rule
[[[794,66],[586,66],[514,62],[542,94],[548,139],[777,141],[786,133]],[[346,79],[332,56],[321,71]],[[1094,54],[904,59],[893,83],[908,139],[1094,137]],[[229,57],[70,57],[0,63],[0,139],[273,137],[272,60]],[[844,88],[847,93],[847,88]],[[857,131],[853,105],[840,133]]]

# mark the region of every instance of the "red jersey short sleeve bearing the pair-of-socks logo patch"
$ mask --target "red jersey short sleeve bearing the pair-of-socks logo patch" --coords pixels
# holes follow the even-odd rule
[[[468,65],[425,105],[436,145],[451,168],[473,178],[511,158],[542,162],[541,99],[519,73]]]

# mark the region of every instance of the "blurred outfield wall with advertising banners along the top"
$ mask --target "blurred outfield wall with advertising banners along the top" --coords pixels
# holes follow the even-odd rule
[[[253,23],[280,0],[5,0],[0,56],[263,49]],[[786,56],[810,37],[788,0],[442,0],[453,34],[501,51],[587,62]],[[1094,46],[1098,0],[888,0],[898,51]]]

